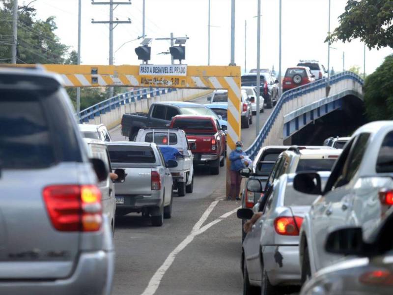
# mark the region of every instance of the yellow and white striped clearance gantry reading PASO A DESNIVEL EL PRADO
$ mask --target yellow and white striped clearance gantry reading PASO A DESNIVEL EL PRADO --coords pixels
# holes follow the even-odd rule
[[[7,66],[10,66],[7,64]],[[36,67],[18,64],[20,67]],[[171,65],[64,65],[43,64],[61,75],[65,87],[160,87],[228,90],[227,154],[241,138],[241,74],[239,66]],[[229,193],[229,159],[226,159],[226,196]]]

